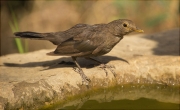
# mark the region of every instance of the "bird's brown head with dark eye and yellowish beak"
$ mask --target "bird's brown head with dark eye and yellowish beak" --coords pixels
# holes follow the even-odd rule
[[[136,27],[134,22],[127,19],[119,19],[108,23],[109,31],[117,36],[123,36],[133,31],[144,32],[143,30]]]

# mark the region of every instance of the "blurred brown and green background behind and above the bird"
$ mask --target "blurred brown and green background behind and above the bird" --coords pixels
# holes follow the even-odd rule
[[[48,41],[12,38],[16,31],[56,32],[78,23],[130,19],[145,31],[179,28],[179,0],[1,0],[1,53],[26,53],[55,48]]]

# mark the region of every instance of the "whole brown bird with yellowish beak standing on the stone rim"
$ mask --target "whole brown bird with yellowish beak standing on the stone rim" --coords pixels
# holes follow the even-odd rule
[[[91,57],[104,55],[121,40],[123,36],[130,32],[143,32],[136,25],[127,19],[119,19],[108,24],[77,24],[66,31],[36,33],[36,32],[15,32],[20,38],[30,38],[37,40],[49,40],[57,45],[53,54],[71,56],[78,67],[78,72],[82,81],[87,84],[90,79],[84,74],[80,65],[76,61],[77,57],[84,57],[101,63]],[[104,67],[108,67],[104,64]],[[115,73],[113,72],[114,76]]]

